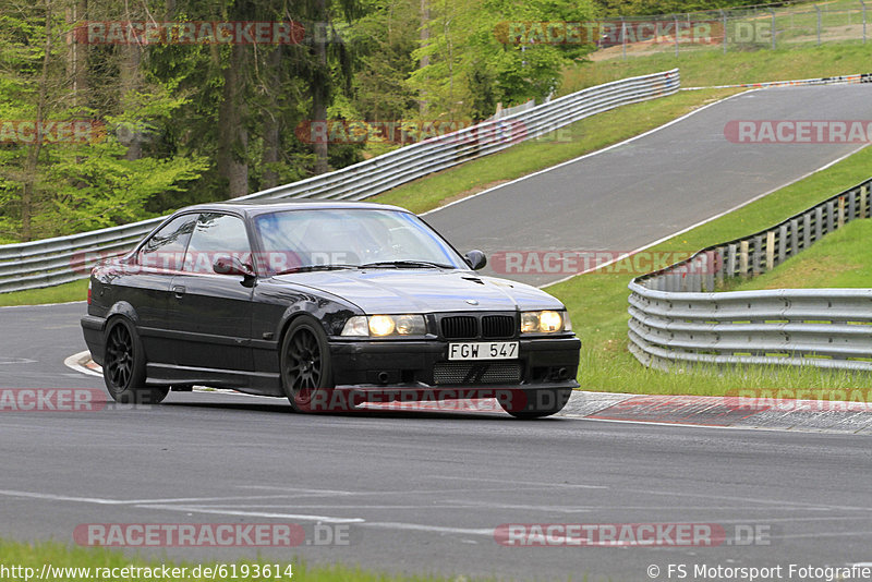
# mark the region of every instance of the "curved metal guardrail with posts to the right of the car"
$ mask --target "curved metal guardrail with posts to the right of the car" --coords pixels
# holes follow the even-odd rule
[[[750,237],[703,248],[630,284],[630,352],[645,365],[768,364],[872,371],[872,289],[714,292],[845,223],[870,218],[872,179]]]

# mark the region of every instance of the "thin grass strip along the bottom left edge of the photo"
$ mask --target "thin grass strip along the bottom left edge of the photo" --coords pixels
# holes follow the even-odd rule
[[[393,582],[393,581],[417,581],[417,582],[436,582],[436,581],[447,581],[451,580],[449,578],[441,578],[441,577],[432,577],[432,575],[414,575],[414,577],[407,577],[407,575],[390,575],[377,572],[371,572],[366,570],[362,570],[359,568],[353,567],[346,567],[346,566],[306,566],[306,563],[302,560],[292,559],[291,561],[286,560],[266,560],[266,559],[258,559],[258,560],[241,560],[241,561],[232,561],[232,562],[215,562],[215,561],[204,561],[204,562],[190,562],[190,561],[177,561],[177,560],[169,560],[169,559],[156,559],[156,558],[143,558],[143,557],[133,557],[130,558],[125,554],[122,554],[119,550],[113,549],[105,549],[105,548],[85,548],[85,547],[77,547],[77,546],[68,546],[64,544],[59,544],[56,542],[36,542],[33,544],[22,543],[22,542],[13,542],[9,539],[0,539],[0,563],[5,566],[7,568],[11,566],[21,566],[25,568],[33,568],[34,572],[32,573],[33,578],[31,580],[36,579],[39,573],[41,572],[44,565],[50,565],[55,568],[90,568],[92,574],[94,574],[95,568],[126,568],[126,567],[138,567],[138,568],[156,568],[162,565],[167,567],[173,568],[187,568],[185,573],[191,573],[194,568],[197,566],[202,567],[215,567],[220,566],[221,563],[228,567],[227,572],[229,573],[230,566],[237,566],[237,573],[238,577],[235,580],[244,580],[244,581],[315,581],[315,582],[347,582],[349,580],[362,581],[362,582]],[[293,577],[281,575],[277,577],[275,569],[270,573],[271,575],[261,575],[261,577],[242,577],[239,575],[241,570],[240,567],[243,565],[247,565],[249,567],[253,565],[275,565],[276,561],[280,565],[280,569],[282,574],[286,573],[286,568],[288,565],[292,567]],[[253,570],[249,570],[252,572]],[[121,573],[120,570],[116,571],[117,573]],[[179,573],[182,571],[179,570]],[[140,571],[141,575],[110,575],[110,577],[102,577],[104,580],[128,580],[128,581],[147,581],[154,582],[154,580],[164,580],[161,575],[157,577],[149,577],[146,572]],[[203,570],[201,570],[201,574]],[[291,572],[288,572],[291,573]],[[78,572],[80,575],[64,575],[64,577],[55,577],[49,578],[49,580],[69,580],[69,581],[89,581],[95,580],[95,577],[92,575],[90,578],[86,575],[81,575],[82,571]],[[228,577],[218,575],[216,577],[218,580],[229,580]],[[3,580],[15,580],[14,577],[3,577]],[[19,575],[17,579],[24,580],[24,575]],[[183,580],[183,581],[201,581],[201,580],[214,580],[211,577],[207,575],[186,575],[184,578],[172,578],[172,580]],[[473,579],[479,580],[479,579]]]

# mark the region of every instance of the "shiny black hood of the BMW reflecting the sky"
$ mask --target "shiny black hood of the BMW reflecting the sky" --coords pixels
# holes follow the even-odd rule
[[[535,287],[461,270],[334,270],[281,275],[274,280],[340,296],[366,314],[562,307]]]

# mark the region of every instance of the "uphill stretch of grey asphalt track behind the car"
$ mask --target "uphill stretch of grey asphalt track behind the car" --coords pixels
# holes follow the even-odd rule
[[[872,85],[737,95],[643,137],[461,201],[426,219],[464,252],[481,248],[488,257],[509,253],[507,264],[492,260],[485,272],[494,275],[496,267],[496,275],[545,284],[577,266],[561,267],[557,255],[546,255],[549,251],[598,251],[601,257],[632,251],[862,147],[856,140],[838,142],[834,125],[822,123],[810,125],[812,143],[800,143],[806,135],[797,136],[796,130],[804,131],[806,125],[798,121],[827,120],[872,123]],[[739,122],[755,123],[741,125],[740,132]],[[774,122],[776,130],[778,122],[788,122],[782,125],[780,140],[775,135],[778,143],[754,143],[771,142],[766,122]],[[819,141],[818,126],[834,143],[813,143]],[[739,137],[744,141],[737,143]],[[850,137],[848,125],[844,140]],[[519,272],[519,265],[526,272]]]

